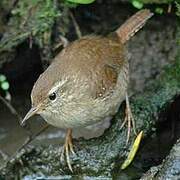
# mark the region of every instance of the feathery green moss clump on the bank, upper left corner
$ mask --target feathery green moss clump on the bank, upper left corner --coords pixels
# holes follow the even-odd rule
[[[61,15],[52,1],[38,0],[32,2],[19,1],[17,7],[13,9],[9,31],[0,43],[0,52],[11,49],[19,41],[23,41],[30,35],[35,37],[37,34],[42,35],[50,31],[55,18]]]

